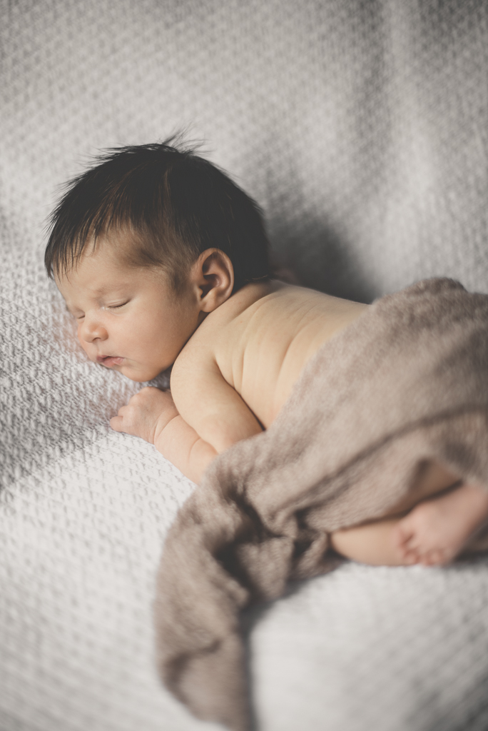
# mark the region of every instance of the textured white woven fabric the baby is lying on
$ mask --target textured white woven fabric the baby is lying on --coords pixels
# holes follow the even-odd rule
[[[0,0],[0,730],[191,731],[150,603],[191,483],[107,420],[42,271],[57,186],[181,126],[307,284],[488,291],[488,11],[476,0]],[[263,731],[488,727],[487,561],[346,564],[246,618]]]

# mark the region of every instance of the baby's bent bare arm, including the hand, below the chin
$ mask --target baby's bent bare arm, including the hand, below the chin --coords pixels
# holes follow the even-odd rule
[[[199,482],[213,458],[262,428],[220,371],[200,371],[188,385],[178,380],[183,411],[192,425],[180,415],[168,391],[153,387],[132,396],[110,425],[154,444],[186,477]]]

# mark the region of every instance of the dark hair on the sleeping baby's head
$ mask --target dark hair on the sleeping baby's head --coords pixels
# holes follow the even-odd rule
[[[175,289],[199,254],[213,248],[232,261],[234,291],[269,278],[258,205],[179,139],[107,150],[66,183],[48,224],[48,276],[75,266],[88,241],[96,246],[100,235],[129,230],[134,247],[121,254],[134,265],[164,267]]]

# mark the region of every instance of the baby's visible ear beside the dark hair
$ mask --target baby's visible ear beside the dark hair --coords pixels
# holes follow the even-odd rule
[[[192,268],[202,312],[212,312],[232,295],[234,267],[221,249],[206,249]]]

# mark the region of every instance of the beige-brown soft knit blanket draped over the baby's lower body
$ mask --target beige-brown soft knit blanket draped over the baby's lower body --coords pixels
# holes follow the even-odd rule
[[[488,295],[430,279],[324,344],[262,434],[210,466],[169,531],[155,602],[164,683],[249,726],[239,613],[331,569],[328,534],[377,518],[436,459],[488,488]]]

